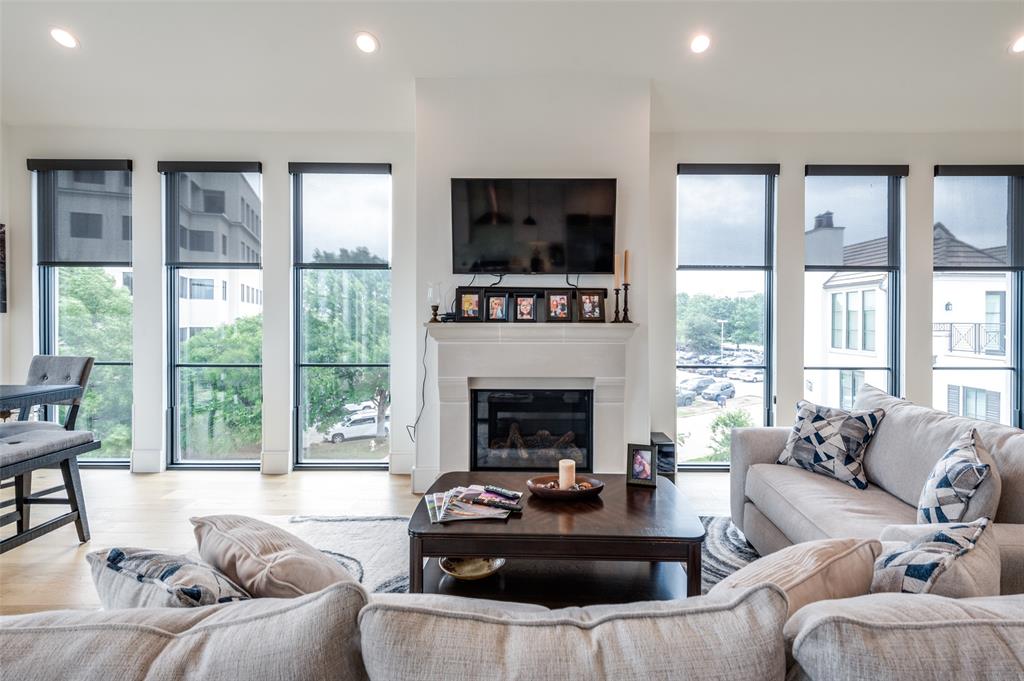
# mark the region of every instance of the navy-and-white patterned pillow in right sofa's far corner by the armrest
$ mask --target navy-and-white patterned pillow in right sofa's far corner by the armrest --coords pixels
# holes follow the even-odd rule
[[[778,463],[806,468],[864,490],[864,450],[885,415],[881,409],[847,412],[802,399],[797,403],[797,422]]]

